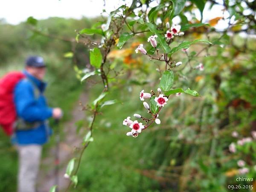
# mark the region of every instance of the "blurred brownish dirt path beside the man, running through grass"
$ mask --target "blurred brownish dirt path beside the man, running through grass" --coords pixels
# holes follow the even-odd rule
[[[79,101],[86,103],[87,95],[82,93]],[[69,182],[68,179],[65,179],[63,176],[66,172],[67,163],[70,158],[73,157],[74,147],[79,146],[81,143],[81,138],[76,134],[75,122],[84,118],[84,112],[80,111],[81,107],[75,105],[75,108],[72,112],[72,117],[69,122],[66,122],[64,125],[65,139],[61,141],[59,145],[59,159],[60,159],[60,168],[58,172],[58,189],[62,191],[67,187]],[[54,136],[53,136],[54,137]],[[41,169],[38,175],[38,192],[49,192],[49,189],[55,185],[55,146],[50,148],[48,155],[41,161]]]

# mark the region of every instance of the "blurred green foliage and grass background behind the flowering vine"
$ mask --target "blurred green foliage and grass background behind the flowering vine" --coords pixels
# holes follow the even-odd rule
[[[193,9],[200,9],[200,5],[195,3],[197,1],[188,2],[190,4],[178,15],[181,26],[200,23],[192,12]],[[218,1],[209,2],[218,4]],[[119,71],[119,75],[110,78],[112,87],[107,99],[117,99],[119,102],[106,106],[102,114],[97,116],[94,141],[82,158],[79,184],[72,190],[226,192],[230,190],[228,185],[241,184],[253,185],[255,191],[256,142],[251,135],[252,131],[256,131],[255,15],[254,19],[239,15],[240,11],[244,11],[241,9],[255,8],[255,1],[230,2],[225,1],[236,20],[245,18],[250,22],[246,20],[229,31],[220,32],[214,26],[223,18],[216,17],[209,21],[209,26],[192,27],[178,43],[209,39],[214,45],[199,52],[208,45],[196,44],[186,52],[173,55],[175,61],[186,64],[174,69],[174,88],[190,87],[201,96],[171,96],[161,113],[161,124],[148,128],[137,138],[125,136],[127,129],[122,125],[122,120],[133,113],[147,116],[139,100],[140,90],[149,92],[152,87],[155,90],[158,87],[160,74],[156,68],[161,68],[160,62],[134,54],[137,45],[145,43],[152,34],[145,32],[137,35],[122,49],[114,47],[111,50],[108,64]],[[240,11],[234,13],[234,10]],[[192,19],[185,18],[184,12],[189,12]],[[156,12],[154,17],[158,16]],[[73,105],[77,105],[84,87],[89,102],[102,90],[98,76],[90,77],[83,84],[77,79],[81,73],[85,73],[82,70],[90,71],[92,67],[85,43],[77,44],[75,41],[75,29],[100,28],[102,20],[106,18],[75,20],[53,17],[33,20],[31,17],[28,19],[30,25],[0,23],[0,76],[11,70],[22,70],[23,61],[28,55],[42,55],[48,66],[47,97],[50,105],[64,109],[64,123],[69,119]],[[31,27],[33,22],[36,28]],[[139,23],[135,23],[134,27],[136,25],[139,26]],[[245,32],[245,35],[240,32]],[[99,35],[93,35],[91,39],[100,41]],[[70,52],[72,56],[69,56]],[[195,67],[199,62],[204,64],[204,71],[189,67]],[[75,65],[76,70],[73,70]],[[87,115],[87,119],[82,119],[84,128],[90,121],[90,113]],[[232,136],[233,131],[238,133],[237,137]],[[85,131],[81,130],[79,134],[84,136]],[[243,145],[237,143],[246,137],[252,138],[252,141]],[[236,143],[236,153],[230,152],[231,143]],[[45,150],[52,145],[53,141]],[[3,133],[0,134],[0,146],[0,191],[15,191],[17,154]],[[247,173],[239,172],[238,160],[246,162]],[[253,181],[238,182],[237,177],[253,178]]]

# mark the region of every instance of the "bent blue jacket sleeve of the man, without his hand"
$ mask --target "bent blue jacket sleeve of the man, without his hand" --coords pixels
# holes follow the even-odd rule
[[[52,116],[52,108],[39,107],[34,95],[34,87],[29,81],[20,81],[14,92],[17,115],[26,121],[44,121]]]

